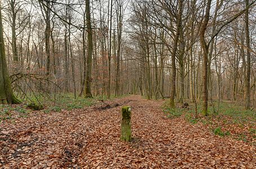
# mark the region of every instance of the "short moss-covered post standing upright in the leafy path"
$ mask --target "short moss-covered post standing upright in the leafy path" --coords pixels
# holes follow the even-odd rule
[[[121,140],[131,141],[131,108],[122,107]]]

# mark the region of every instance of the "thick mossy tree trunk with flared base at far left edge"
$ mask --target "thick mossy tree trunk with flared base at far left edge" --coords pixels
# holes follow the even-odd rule
[[[0,5],[0,104],[20,103],[12,92],[9,73],[7,70],[5,43],[3,41],[3,24]]]

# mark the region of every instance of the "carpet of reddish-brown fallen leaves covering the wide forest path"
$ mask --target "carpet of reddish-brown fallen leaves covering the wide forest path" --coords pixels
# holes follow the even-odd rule
[[[107,106],[105,104],[114,105]],[[120,141],[121,106],[133,141]],[[85,109],[36,113],[0,124],[0,168],[255,168],[255,147],[201,124],[168,119],[162,101],[140,96]]]

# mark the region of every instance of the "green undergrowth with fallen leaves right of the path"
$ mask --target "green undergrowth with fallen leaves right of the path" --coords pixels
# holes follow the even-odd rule
[[[218,136],[231,136],[236,140],[245,141],[256,145],[256,112],[245,110],[244,106],[231,103],[209,103],[208,113],[205,117],[201,114],[202,105],[197,105],[198,118],[196,118],[195,104],[189,103],[189,109],[183,109],[176,103],[176,108],[169,107],[169,99],[164,102],[162,109],[167,118],[184,118],[188,123],[201,123],[208,126],[209,130]]]

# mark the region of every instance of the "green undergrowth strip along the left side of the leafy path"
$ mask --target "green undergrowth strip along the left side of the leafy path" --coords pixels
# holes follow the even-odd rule
[[[124,97],[124,96],[118,96]],[[117,98],[111,96],[110,100]],[[19,98],[19,100],[22,100]],[[43,113],[61,112],[61,110],[82,109],[97,103],[98,100],[109,100],[105,96],[98,96],[94,98],[77,97],[74,99],[72,94],[61,94],[49,96],[47,98],[41,95],[29,97],[29,99],[22,100],[20,105],[1,105],[0,104],[0,123],[6,119],[14,119],[28,117],[29,113],[33,111],[41,111]]]

